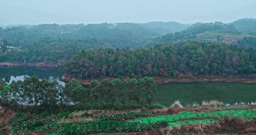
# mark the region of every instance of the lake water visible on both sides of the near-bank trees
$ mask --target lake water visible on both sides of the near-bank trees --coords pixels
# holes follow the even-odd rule
[[[60,80],[63,74],[61,68],[39,68],[39,67],[0,67],[0,78],[7,83],[13,80],[24,80],[29,76],[38,76],[40,79]],[[198,102],[202,100],[219,99],[224,103],[255,102],[256,84],[248,83],[168,83],[158,85],[157,103],[170,106],[175,100],[185,103]]]

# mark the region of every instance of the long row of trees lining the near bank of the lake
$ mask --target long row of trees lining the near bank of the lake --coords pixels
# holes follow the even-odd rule
[[[76,105],[91,108],[147,107],[157,95],[154,79],[144,77],[139,80],[103,79],[93,80],[88,88],[72,79],[65,87],[56,81],[38,79],[33,76],[24,81],[13,81],[9,85],[0,80],[0,98],[9,107],[48,107]]]

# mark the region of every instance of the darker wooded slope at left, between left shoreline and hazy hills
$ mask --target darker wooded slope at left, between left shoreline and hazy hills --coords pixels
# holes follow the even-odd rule
[[[9,44],[8,41],[5,43],[0,41],[0,45],[3,47],[6,47],[7,44]],[[103,47],[110,47],[110,45],[92,38],[84,38],[83,40],[51,40],[49,38],[45,38],[38,42],[25,44],[14,50],[7,50],[7,48],[5,50],[0,49],[0,62],[61,63],[68,60],[79,50]]]

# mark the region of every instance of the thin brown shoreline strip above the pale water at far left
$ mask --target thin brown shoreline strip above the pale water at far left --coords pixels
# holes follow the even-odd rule
[[[61,67],[64,63],[12,63],[12,62],[0,62],[0,67],[19,67],[19,66],[30,66],[30,67]]]

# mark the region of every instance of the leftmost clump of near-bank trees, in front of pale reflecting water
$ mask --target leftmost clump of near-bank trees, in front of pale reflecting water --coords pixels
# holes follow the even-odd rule
[[[39,80],[36,76],[29,77],[22,81],[13,81],[5,86],[8,95],[12,96],[15,102],[27,103],[27,105],[42,105],[55,107],[64,103],[63,87],[56,81],[50,82],[46,79]],[[6,91],[5,90],[5,91]]]

